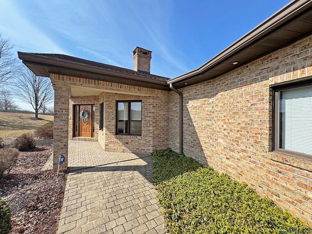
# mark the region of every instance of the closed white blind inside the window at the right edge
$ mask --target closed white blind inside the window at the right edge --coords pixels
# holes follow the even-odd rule
[[[280,148],[312,155],[312,85],[280,93]]]

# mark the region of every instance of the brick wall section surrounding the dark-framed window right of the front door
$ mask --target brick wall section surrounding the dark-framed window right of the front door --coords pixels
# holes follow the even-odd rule
[[[134,96],[104,94],[105,150],[151,153],[168,147],[168,95]],[[142,100],[141,136],[116,135],[116,100]]]

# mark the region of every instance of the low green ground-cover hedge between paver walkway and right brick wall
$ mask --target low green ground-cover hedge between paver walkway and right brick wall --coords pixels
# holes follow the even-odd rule
[[[312,234],[245,183],[171,150],[154,152],[153,159],[153,179],[159,182],[158,200],[170,234]]]

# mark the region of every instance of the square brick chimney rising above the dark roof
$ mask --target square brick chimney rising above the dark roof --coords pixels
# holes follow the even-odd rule
[[[136,72],[151,72],[152,51],[137,47],[133,51],[134,70]]]

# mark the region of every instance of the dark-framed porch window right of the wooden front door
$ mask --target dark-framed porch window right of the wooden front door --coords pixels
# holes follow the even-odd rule
[[[116,133],[141,135],[142,101],[117,101]]]

